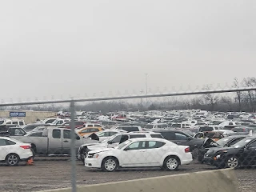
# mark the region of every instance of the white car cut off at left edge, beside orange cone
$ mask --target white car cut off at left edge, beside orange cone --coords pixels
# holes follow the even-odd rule
[[[18,162],[27,161],[33,157],[28,143],[19,142],[13,138],[0,137],[0,162],[8,166],[17,166]]]

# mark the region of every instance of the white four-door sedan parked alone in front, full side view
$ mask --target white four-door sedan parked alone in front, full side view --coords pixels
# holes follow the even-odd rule
[[[178,170],[178,166],[190,164],[189,146],[178,146],[162,138],[133,138],[116,148],[90,151],[85,166],[114,171],[119,167],[162,167]]]

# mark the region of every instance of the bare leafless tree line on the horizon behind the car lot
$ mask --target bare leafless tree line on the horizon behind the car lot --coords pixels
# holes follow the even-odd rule
[[[243,78],[241,82],[234,78],[230,88],[256,86],[256,78]],[[204,90],[214,90],[212,86],[204,86]],[[111,102],[87,102],[76,104],[75,110],[94,112],[114,111],[144,111],[144,110],[210,110],[210,111],[246,111],[254,112],[256,106],[256,90],[238,91],[233,94],[202,94],[188,97],[168,97],[165,101],[158,100],[148,103],[111,101]],[[0,110],[38,110],[38,111],[69,111],[68,106],[61,105],[37,105],[37,106],[12,106],[1,107]]]

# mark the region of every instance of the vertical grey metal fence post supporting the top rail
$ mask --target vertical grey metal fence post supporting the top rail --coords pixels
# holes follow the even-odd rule
[[[75,151],[75,134],[74,134],[74,101],[70,102],[70,119],[71,119],[71,185],[72,192],[77,191],[76,186],[76,151]]]

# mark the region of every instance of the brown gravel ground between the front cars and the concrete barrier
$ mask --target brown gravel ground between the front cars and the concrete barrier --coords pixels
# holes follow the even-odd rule
[[[70,186],[70,161],[47,161],[53,158],[39,158],[34,166],[16,167],[0,165],[0,191],[29,192],[50,190]],[[58,158],[54,158],[57,160]],[[100,170],[87,169],[82,162],[77,162],[77,184],[95,184],[117,182],[136,178],[150,178],[170,174],[184,174],[203,170],[213,170],[211,166],[194,162],[188,166],[180,166],[178,171],[162,171],[159,169],[118,170],[104,173]],[[256,169],[235,170],[241,192],[254,192],[256,189]],[[186,184],[184,184],[186,185]],[[189,186],[188,186],[189,187]]]

